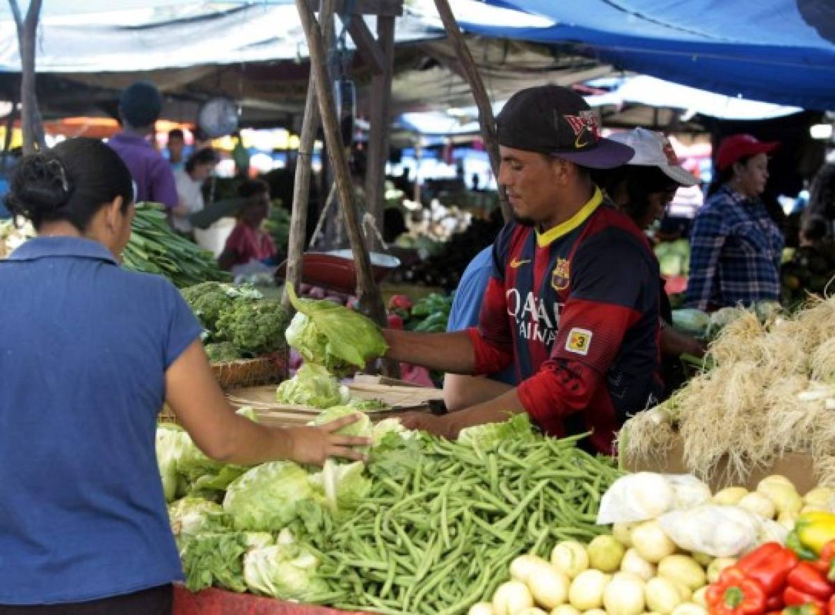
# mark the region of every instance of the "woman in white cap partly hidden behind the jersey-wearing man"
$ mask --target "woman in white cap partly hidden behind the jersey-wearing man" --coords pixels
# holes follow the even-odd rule
[[[629,145],[635,150],[635,156],[623,166],[595,174],[595,181],[641,229],[664,216],[677,189],[699,183],[693,174],[681,167],[670,141],[662,134],[636,128],[612,134],[609,139]],[[701,341],[670,326],[672,310],[663,279],[660,280],[660,315],[661,371],[665,392],[669,395],[683,378],[678,357],[683,354],[701,356],[705,347]]]

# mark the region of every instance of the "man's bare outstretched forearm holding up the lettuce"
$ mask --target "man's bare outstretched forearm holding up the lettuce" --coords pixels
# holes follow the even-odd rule
[[[472,374],[475,369],[473,343],[467,331],[454,333],[414,333],[385,329],[386,356],[430,370],[451,374]]]

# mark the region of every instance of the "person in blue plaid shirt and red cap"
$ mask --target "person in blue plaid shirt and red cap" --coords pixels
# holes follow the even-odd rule
[[[776,147],[750,134],[720,144],[716,179],[691,232],[688,307],[711,311],[779,299],[784,240],[759,198],[767,154]]]

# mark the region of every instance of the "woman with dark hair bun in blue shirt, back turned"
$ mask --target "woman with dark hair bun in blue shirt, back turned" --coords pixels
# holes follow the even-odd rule
[[[359,459],[367,440],[337,436],[346,421],[278,429],[232,411],[180,293],[119,267],[134,189],[106,145],[27,156],[6,204],[38,236],[0,260],[0,614],[170,613],[182,572],[154,454],[164,402],[229,463]]]

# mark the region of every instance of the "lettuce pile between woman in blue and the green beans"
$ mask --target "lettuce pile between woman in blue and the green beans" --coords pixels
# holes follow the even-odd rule
[[[357,413],[335,406],[319,425]],[[251,411],[242,414],[254,419]],[[399,422],[377,429],[402,431]],[[373,437],[367,416],[343,433]],[[296,537],[319,535],[350,517],[371,488],[362,461],[326,461],[323,468],[271,461],[251,468],[210,460],[179,426],[159,424],[156,453],[171,531],[193,592],[233,592],[305,602],[321,601],[326,583],[316,576],[320,557]]]

